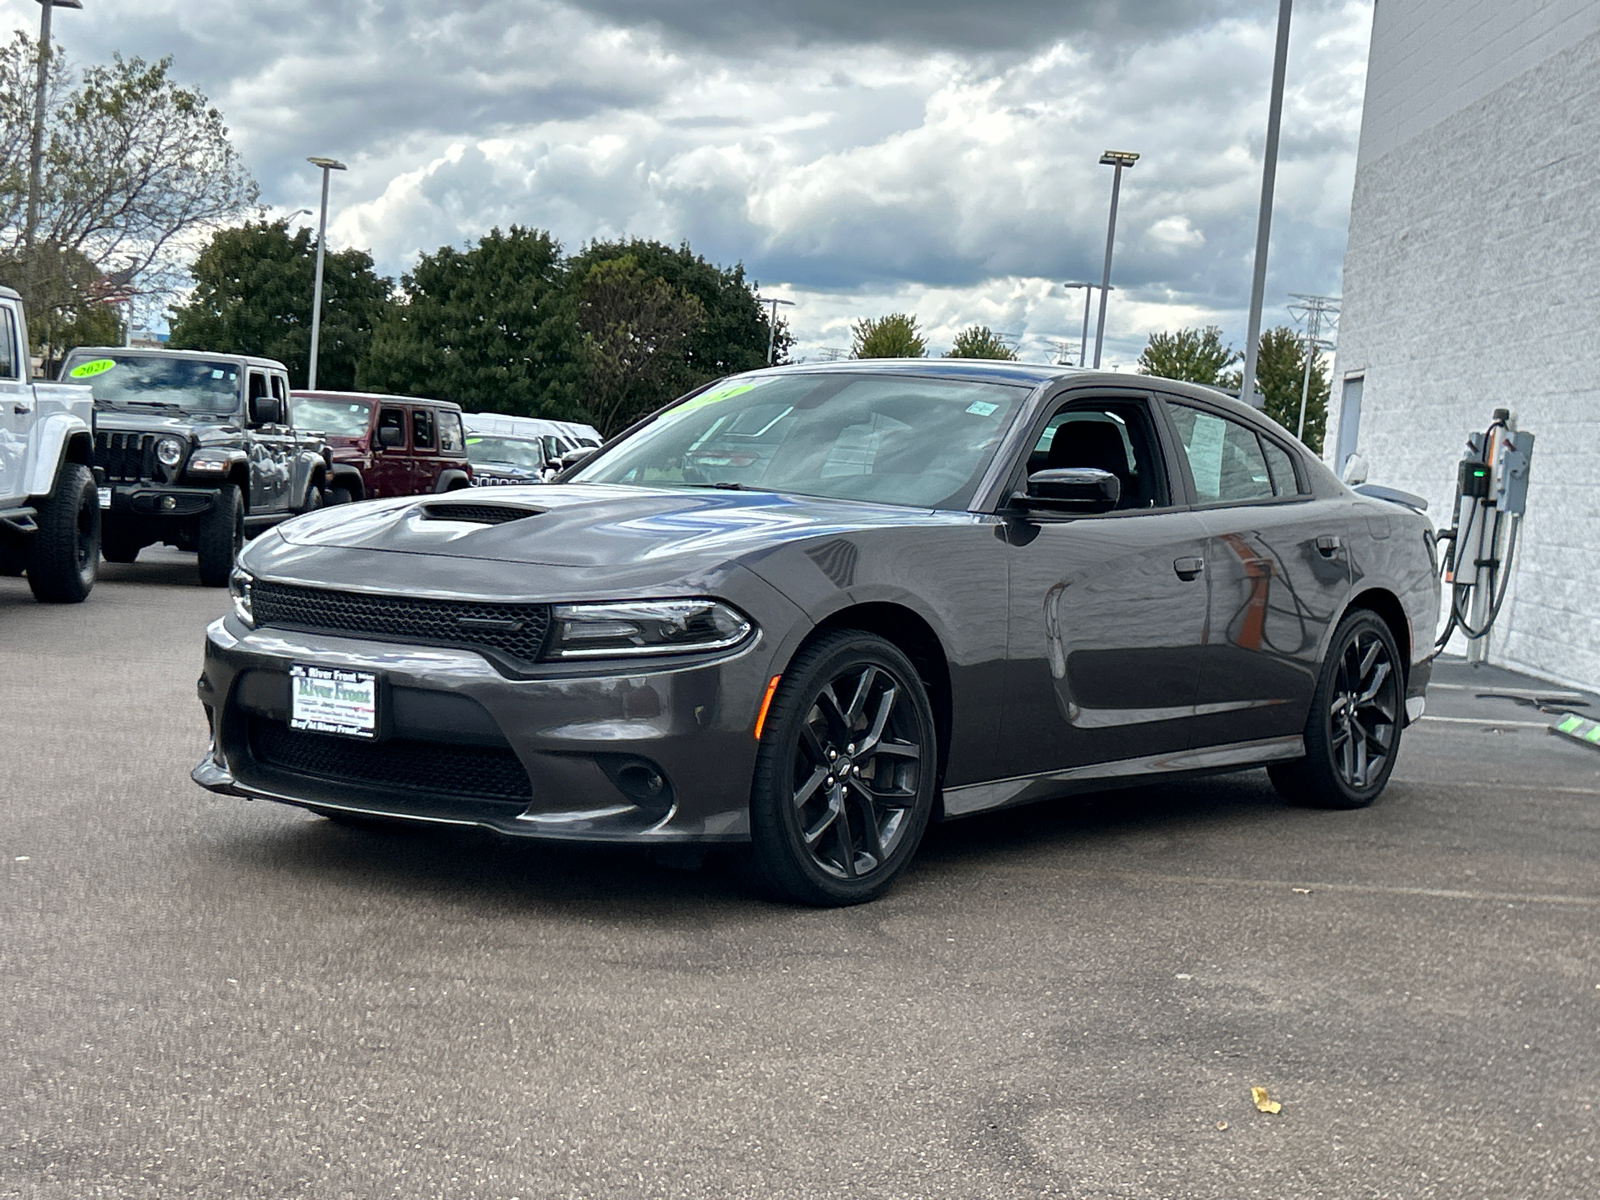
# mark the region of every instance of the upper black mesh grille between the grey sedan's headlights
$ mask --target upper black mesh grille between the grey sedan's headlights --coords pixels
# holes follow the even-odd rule
[[[480,600],[419,600],[256,581],[251,611],[258,626],[366,634],[427,646],[488,650],[518,666],[538,662],[550,624],[546,605]]]

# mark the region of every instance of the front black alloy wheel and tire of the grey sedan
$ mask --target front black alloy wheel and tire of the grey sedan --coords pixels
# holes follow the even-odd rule
[[[928,693],[890,642],[827,634],[802,651],[768,712],[750,798],[770,883],[803,904],[861,904],[904,870],[933,811]]]

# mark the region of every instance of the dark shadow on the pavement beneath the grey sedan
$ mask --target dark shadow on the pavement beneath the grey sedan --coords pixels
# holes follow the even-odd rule
[[[1046,800],[934,826],[896,891],[941,886],[1018,858],[1085,858],[1130,835],[1162,837],[1267,818],[1282,810],[1264,771]],[[312,813],[270,830],[226,838],[222,853],[254,872],[294,875],[312,888],[461,902],[525,912],[570,910],[622,922],[760,920],[797,910],[774,902],[746,848],[715,848],[702,862],[632,846],[518,842],[485,830],[408,822],[347,826]],[[894,894],[894,893],[891,893]],[[803,909],[802,909],[803,910]]]

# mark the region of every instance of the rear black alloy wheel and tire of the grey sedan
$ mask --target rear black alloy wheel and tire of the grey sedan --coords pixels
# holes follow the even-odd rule
[[[1291,803],[1365,808],[1394,771],[1405,725],[1405,669],[1376,613],[1339,622],[1306,720],[1306,757],[1269,768]]]

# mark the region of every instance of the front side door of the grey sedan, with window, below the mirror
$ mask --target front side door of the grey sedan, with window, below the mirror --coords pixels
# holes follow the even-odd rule
[[[1147,394],[1046,410],[1013,490],[1046,467],[1122,483],[1101,515],[1014,510],[1002,773],[1058,771],[1189,746],[1206,622],[1206,533]]]

